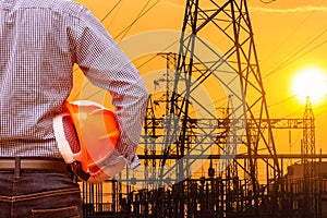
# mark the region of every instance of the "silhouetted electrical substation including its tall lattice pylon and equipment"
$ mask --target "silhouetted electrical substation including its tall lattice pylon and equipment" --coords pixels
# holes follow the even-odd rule
[[[246,1],[187,0],[181,33],[175,53],[156,55],[166,70],[148,99],[142,166],[82,183],[85,217],[327,217],[310,99],[303,118],[269,117]],[[278,154],[282,129],[302,132],[301,153]]]

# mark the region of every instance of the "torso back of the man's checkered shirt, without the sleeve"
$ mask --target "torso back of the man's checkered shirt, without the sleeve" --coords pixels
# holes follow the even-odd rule
[[[49,126],[72,88],[81,10],[61,0],[0,1],[1,156],[59,155]]]

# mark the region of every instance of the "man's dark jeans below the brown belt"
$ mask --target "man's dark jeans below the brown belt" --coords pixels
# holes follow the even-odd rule
[[[71,173],[0,172],[0,217],[82,218],[78,184]]]

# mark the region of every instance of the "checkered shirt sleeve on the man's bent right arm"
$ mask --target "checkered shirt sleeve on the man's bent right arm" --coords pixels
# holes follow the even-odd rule
[[[76,33],[76,63],[94,85],[111,94],[121,132],[117,150],[135,169],[148,98],[142,76],[89,10],[81,12]]]

